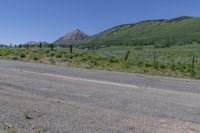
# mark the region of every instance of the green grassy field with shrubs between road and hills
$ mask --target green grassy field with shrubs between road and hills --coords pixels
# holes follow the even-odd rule
[[[155,48],[154,46],[113,46],[97,50],[68,48],[1,48],[4,59],[38,62],[87,69],[145,73],[200,79],[200,44]],[[130,55],[125,60],[125,54]],[[194,61],[193,61],[194,56]]]

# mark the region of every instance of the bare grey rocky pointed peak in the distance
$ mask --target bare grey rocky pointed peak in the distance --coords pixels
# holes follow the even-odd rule
[[[84,40],[88,37],[89,35],[87,35],[86,33],[82,32],[79,29],[76,29],[72,32],[67,33],[65,36],[59,38],[58,40],[56,40],[54,44],[69,45],[69,44],[75,43],[76,41]]]

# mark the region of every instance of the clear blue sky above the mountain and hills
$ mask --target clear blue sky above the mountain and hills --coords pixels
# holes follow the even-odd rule
[[[77,28],[94,35],[142,20],[200,17],[199,7],[200,0],[0,0],[0,43],[53,42]]]

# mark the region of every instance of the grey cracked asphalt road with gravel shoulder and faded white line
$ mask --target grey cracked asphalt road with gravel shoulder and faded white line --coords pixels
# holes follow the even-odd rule
[[[0,133],[6,127],[199,133],[200,81],[0,60]]]

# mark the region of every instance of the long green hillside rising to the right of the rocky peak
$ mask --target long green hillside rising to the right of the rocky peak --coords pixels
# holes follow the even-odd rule
[[[200,18],[182,16],[171,20],[145,20],[134,24],[119,25],[83,41],[80,45],[134,45],[161,40],[200,40]]]

